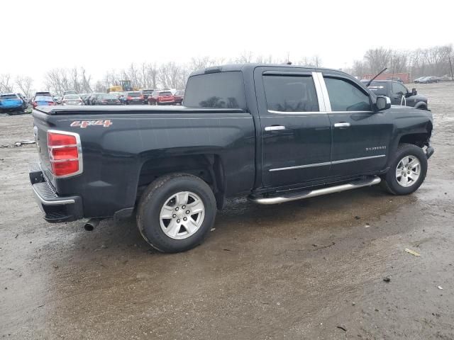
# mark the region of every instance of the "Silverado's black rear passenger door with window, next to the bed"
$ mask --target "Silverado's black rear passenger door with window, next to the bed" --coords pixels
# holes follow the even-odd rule
[[[262,179],[282,187],[328,176],[331,124],[315,72],[255,69]]]

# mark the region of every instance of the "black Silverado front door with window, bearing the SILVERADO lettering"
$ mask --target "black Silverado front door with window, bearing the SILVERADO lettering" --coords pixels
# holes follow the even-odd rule
[[[323,73],[321,84],[331,127],[332,177],[384,169],[392,134],[387,111],[372,111],[370,94],[348,77]]]

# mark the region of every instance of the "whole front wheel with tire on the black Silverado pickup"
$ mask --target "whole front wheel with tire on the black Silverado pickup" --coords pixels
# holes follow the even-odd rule
[[[393,195],[408,195],[421,186],[426,174],[427,157],[423,149],[412,144],[402,144],[397,148],[382,183]]]

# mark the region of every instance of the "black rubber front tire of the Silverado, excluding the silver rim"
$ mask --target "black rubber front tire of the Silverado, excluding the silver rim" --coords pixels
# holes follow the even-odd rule
[[[411,184],[411,186],[401,186],[396,178],[396,169],[401,161],[406,156],[414,156],[419,160],[419,164],[421,164],[421,170],[419,174],[419,178]],[[400,144],[397,147],[397,151],[392,158],[392,161],[389,164],[389,171],[387,174],[382,176],[382,187],[392,193],[392,195],[409,195],[410,193],[414,193],[423,183],[424,179],[426,178],[427,174],[427,157],[426,154],[423,152],[421,147],[418,147],[413,144]]]

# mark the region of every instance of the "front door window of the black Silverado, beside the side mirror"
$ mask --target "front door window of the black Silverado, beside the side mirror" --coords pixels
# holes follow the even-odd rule
[[[372,111],[369,96],[345,79],[324,77],[331,111]]]

